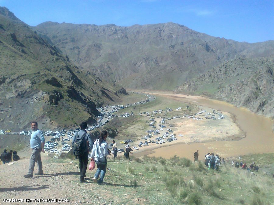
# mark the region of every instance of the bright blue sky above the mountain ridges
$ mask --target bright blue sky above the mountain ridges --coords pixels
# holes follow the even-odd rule
[[[174,22],[211,36],[248,43],[274,39],[274,0],[0,0],[23,22],[115,24]]]

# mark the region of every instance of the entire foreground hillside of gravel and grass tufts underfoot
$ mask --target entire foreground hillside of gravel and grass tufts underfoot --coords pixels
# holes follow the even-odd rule
[[[0,199],[70,200],[61,204],[271,204],[273,154],[242,160],[247,165],[255,161],[259,171],[254,175],[227,161],[220,172],[213,172],[176,156],[131,162],[108,159],[104,183],[98,185],[92,181],[96,170],[87,170],[87,183],[79,183],[78,160],[42,159],[44,175],[24,178],[29,160],[23,159],[0,166],[0,179],[5,181]]]

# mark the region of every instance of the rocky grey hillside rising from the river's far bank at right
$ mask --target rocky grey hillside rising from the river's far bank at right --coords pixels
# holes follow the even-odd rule
[[[274,58],[237,58],[188,80],[177,91],[203,94],[274,117]]]

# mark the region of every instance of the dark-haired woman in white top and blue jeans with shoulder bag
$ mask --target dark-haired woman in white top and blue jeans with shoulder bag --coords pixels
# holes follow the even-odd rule
[[[107,131],[103,130],[99,139],[94,142],[92,151],[91,151],[91,159],[95,159],[97,163],[97,171],[93,177],[93,182],[101,184],[104,181],[104,176],[107,170],[107,155],[110,154],[110,151],[107,149],[108,145],[106,142],[107,139]],[[98,177],[100,178],[98,180]],[[98,181],[97,181],[98,180]]]

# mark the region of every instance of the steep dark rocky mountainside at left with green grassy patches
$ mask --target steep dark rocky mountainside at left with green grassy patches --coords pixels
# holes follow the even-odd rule
[[[55,46],[0,7],[1,129],[18,131],[94,121],[96,106],[119,102],[123,87],[79,69]]]

